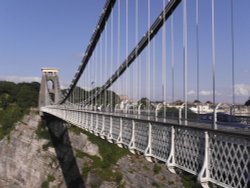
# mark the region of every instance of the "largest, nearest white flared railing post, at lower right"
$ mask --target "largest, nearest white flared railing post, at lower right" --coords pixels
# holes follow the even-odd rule
[[[205,153],[204,153],[204,161],[202,169],[198,175],[198,181],[200,182],[201,186],[203,188],[209,188],[208,182],[209,182],[209,135],[208,132],[205,132]]]

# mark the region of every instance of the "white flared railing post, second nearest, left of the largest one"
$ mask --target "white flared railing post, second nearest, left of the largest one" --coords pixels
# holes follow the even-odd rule
[[[168,170],[172,173],[175,173],[175,170],[174,170],[174,167],[175,167],[174,146],[175,146],[175,128],[171,127],[171,148],[170,148],[170,153],[169,153],[169,157],[167,160],[167,167],[168,167]]]

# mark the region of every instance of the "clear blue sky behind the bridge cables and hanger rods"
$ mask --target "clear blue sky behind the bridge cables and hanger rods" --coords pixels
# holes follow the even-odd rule
[[[150,23],[162,10],[163,1],[167,2],[167,0],[151,0]],[[205,102],[212,100],[211,0],[200,0],[199,2],[199,93],[200,99]],[[229,103],[232,101],[230,2],[230,0],[215,1],[216,100]],[[114,21],[113,44],[107,43],[107,53],[110,56],[106,58],[107,62],[113,62],[113,64],[111,63],[111,66],[98,61],[101,59],[101,46],[104,54],[104,32],[101,38],[102,42],[100,41],[97,45],[95,59],[91,60],[95,63],[87,67],[87,73],[82,76],[79,82],[82,87],[93,87],[91,85],[93,80],[95,80],[96,86],[106,81],[147,30],[147,0],[139,0],[138,38],[135,34],[135,0],[129,0],[129,42],[126,49],[126,1],[120,0],[120,3],[120,56],[118,57],[118,3],[116,3],[112,18]],[[187,0],[187,3],[188,100],[192,101],[197,98],[195,0]],[[39,81],[42,67],[56,67],[60,69],[62,86],[69,85],[81,62],[82,54],[89,43],[104,4],[104,0],[0,0],[0,80]],[[244,103],[250,96],[249,8],[249,0],[234,0],[236,103]],[[175,100],[183,99],[182,11],[182,4],[180,4],[173,14]],[[166,28],[166,65],[162,63],[161,29],[150,47],[144,50],[133,63],[131,69],[112,86],[113,90],[120,94],[129,95],[131,98],[149,95],[148,97],[154,100],[164,98],[164,100],[171,101],[173,99],[170,25],[171,22],[168,20],[164,26]],[[106,30],[107,40],[110,41],[110,20]],[[111,52],[112,46],[113,53]],[[147,63],[149,62],[146,53],[148,51],[150,51],[150,63]],[[97,75],[93,74],[93,70]],[[136,73],[139,77],[135,76]],[[151,79],[148,78],[149,74]],[[147,86],[149,82],[151,85]],[[138,85],[140,85],[139,88],[137,88]]]

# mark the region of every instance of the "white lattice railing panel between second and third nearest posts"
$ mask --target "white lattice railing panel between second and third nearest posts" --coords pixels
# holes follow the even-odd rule
[[[171,148],[171,127],[152,124],[152,155],[167,160]]]

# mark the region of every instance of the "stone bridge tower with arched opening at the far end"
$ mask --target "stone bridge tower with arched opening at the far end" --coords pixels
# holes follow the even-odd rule
[[[56,104],[60,100],[59,70],[42,68],[42,80],[39,92],[39,107]]]

